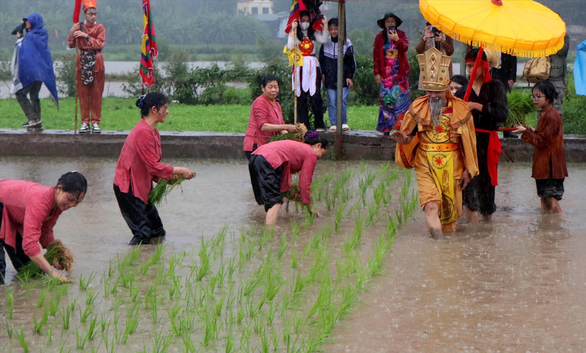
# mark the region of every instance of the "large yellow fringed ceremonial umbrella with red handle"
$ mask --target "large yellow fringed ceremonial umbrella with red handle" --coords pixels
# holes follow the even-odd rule
[[[419,0],[419,9],[447,36],[479,47],[471,77],[484,49],[540,57],[564,46],[564,21],[533,0]],[[465,101],[471,88],[468,85]]]

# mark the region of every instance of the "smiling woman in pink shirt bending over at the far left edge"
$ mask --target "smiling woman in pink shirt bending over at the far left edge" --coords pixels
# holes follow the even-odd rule
[[[67,281],[57,261],[47,262],[39,243],[47,248],[54,240],[53,227],[63,211],[76,207],[86,196],[87,180],[79,172],[63,174],[57,186],[48,187],[25,180],[0,180],[0,284],[6,275],[8,254],[18,271],[29,261],[47,275]]]

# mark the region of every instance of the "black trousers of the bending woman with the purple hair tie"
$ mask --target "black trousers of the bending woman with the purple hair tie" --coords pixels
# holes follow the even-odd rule
[[[267,212],[275,204],[282,204],[281,176],[283,167],[274,169],[271,163],[260,155],[251,155],[248,162],[250,172],[250,183],[253,184],[254,198],[257,204],[264,205]]]

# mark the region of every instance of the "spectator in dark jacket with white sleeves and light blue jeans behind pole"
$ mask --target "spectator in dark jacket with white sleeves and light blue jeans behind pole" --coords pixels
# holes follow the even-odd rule
[[[338,19],[332,18],[328,21],[330,37],[328,43],[322,44],[319,49],[319,66],[322,69],[322,83],[328,90],[328,116],[332,126],[329,132],[336,132],[337,108],[338,108]],[[343,67],[344,79],[342,80],[342,131],[348,131],[350,127],[347,121],[348,96],[352,87],[352,78],[356,71],[354,50],[350,39],[346,38],[343,46]]]

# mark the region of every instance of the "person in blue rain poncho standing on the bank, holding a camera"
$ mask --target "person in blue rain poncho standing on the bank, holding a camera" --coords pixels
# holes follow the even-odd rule
[[[24,30],[26,36],[23,36]],[[11,62],[10,94],[16,96],[16,101],[28,119],[22,127],[28,130],[42,130],[39,91],[43,83],[49,89],[55,105],[59,107],[53,60],[47,46],[47,30],[43,28],[42,16],[38,13],[26,16],[22,19],[21,25],[12,31],[12,35],[15,35],[17,40]]]

